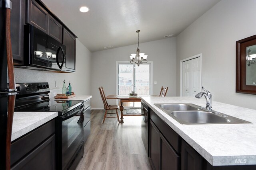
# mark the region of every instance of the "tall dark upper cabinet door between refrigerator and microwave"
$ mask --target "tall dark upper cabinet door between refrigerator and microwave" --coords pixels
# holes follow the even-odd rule
[[[14,64],[23,64],[24,60],[24,25],[26,22],[26,2],[24,0],[11,0],[11,41]]]

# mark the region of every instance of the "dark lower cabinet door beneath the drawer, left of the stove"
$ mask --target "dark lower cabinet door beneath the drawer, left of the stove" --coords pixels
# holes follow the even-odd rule
[[[55,170],[55,135],[14,165],[12,170]]]

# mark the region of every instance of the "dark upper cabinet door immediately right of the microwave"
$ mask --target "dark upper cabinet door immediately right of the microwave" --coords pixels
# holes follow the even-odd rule
[[[76,37],[63,28],[63,44],[66,45],[66,70],[76,70]]]

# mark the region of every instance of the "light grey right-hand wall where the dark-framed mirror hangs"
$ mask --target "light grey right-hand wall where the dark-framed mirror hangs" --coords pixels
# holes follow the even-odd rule
[[[177,36],[177,95],[180,60],[202,53],[202,86],[212,99],[256,109],[255,95],[235,91],[236,41],[256,34],[253,7],[255,0],[222,0]]]

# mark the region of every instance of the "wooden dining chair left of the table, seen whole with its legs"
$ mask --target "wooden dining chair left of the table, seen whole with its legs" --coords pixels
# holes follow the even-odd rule
[[[108,110],[114,110],[114,109],[116,110],[117,119],[118,119],[118,122],[120,123],[119,115],[118,115],[118,111],[117,111],[117,109],[119,109],[119,106],[118,105],[112,105],[112,106],[109,105],[108,102],[107,102],[103,87],[99,87],[99,90],[100,90],[100,96],[101,96],[103,104],[104,104],[104,109],[106,110],[105,115],[104,115],[104,119],[103,119],[103,123],[105,121],[105,118],[106,118],[107,114],[114,114],[114,113],[107,113]],[[114,117],[116,117],[116,116],[109,116],[107,118],[114,118]]]

